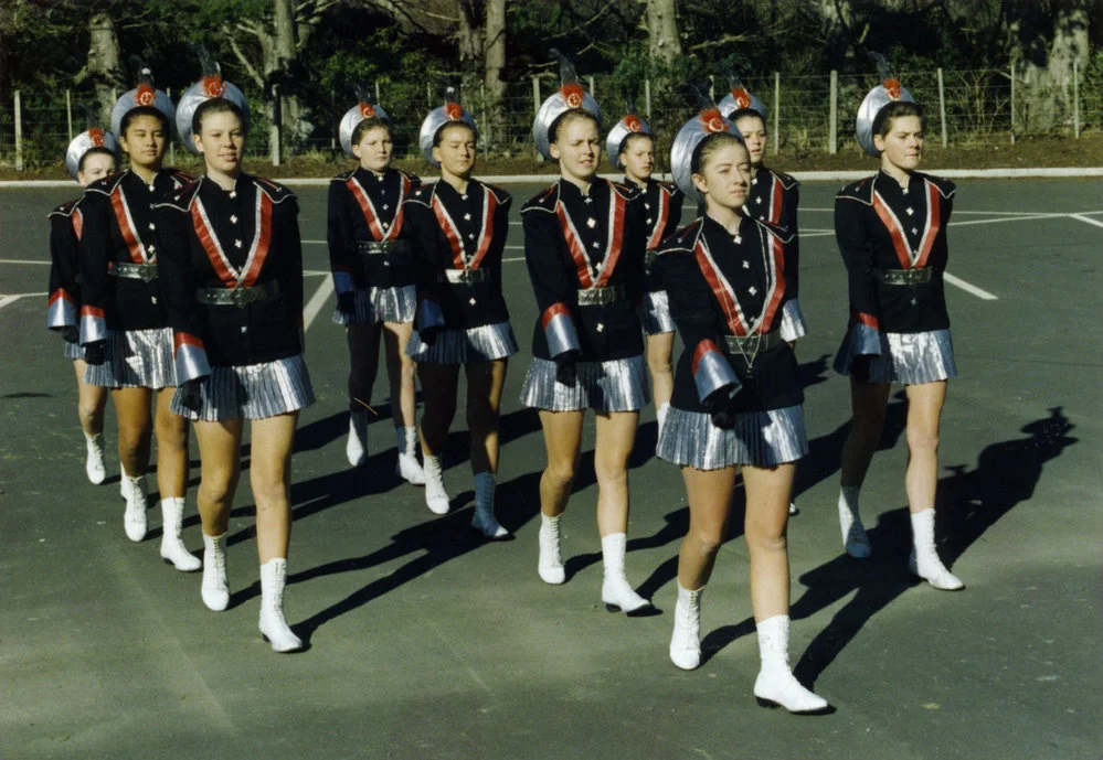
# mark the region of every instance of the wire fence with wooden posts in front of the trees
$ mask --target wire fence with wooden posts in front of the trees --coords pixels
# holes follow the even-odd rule
[[[1016,101],[1015,83],[1009,72],[916,71],[901,72],[900,78],[926,107],[929,140],[945,141],[950,147],[997,139],[1014,141],[1016,133],[1022,133],[1029,127],[1030,104],[1021,103],[1021,95],[1018,96],[1020,101]],[[853,140],[853,115],[876,82],[872,74],[744,79],[745,86],[766,106],[771,146],[783,152],[858,150]],[[612,75],[583,77],[583,84],[602,104],[606,127],[623,116],[624,101]],[[509,82],[500,100],[490,98],[482,86],[462,92],[464,106],[479,124],[480,149],[502,158],[535,157],[532,118],[556,85],[551,76]],[[1072,114],[1059,131],[1079,136],[1084,129],[1103,128],[1103,90],[1085,87],[1079,78],[1070,89]],[[637,111],[659,136],[661,156],[666,153],[669,138],[693,111],[693,106],[660,83],[645,83],[644,90],[637,94]],[[724,90],[724,85],[718,82],[712,95],[719,100]],[[329,103],[309,104],[306,111],[309,115],[295,124],[288,124],[285,117],[283,131],[277,133],[272,130],[272,115],[276,110],[273,104],[266,103],[258,89],[250,92],[246,87],[246,95],[252,104],[247,147],[251,157],[269,156],[271,140],[275,137],[280,139],[285,157],[340,152],[337,125],[353,104],[335,94]],[[0,165],[23,168],[61,161],[68,140],[84,129],[76,106],[82,96],[87,99],[86,94],[66,90],[18,93],[12,103],[0,110]],[[376,99],[394,124],[396,153],[416,156],[421,121],[441,103],[435,85],[428,77],[421,82],[390,82],[378,87]],[[178,141],[173,151],[173,158],[183,159],[178,162],[187,162],[188,152]]]

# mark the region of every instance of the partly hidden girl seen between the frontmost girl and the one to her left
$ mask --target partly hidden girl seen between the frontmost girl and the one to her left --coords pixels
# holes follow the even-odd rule
[[[651,251],[678,228],[683,196],[675,185],[651,179],[651,171],[655,169],[655,140],[651,128],[636,116],[632,101],[628,104],[628,114],[609,130],[605,152],[614,169],[624,170],[624,184],[635,185],[644,194],[646,245],[647,250]],[[647,254],[648,270],[653,256]],[[667,295],[649,271],[646,285],[640,319],[647,335],[647,371],[651,377],[655,414],[661,428],[667,409],[670,408],[670,394],[674,392],[670,357],[674,353],[675,324],[670,319]]]

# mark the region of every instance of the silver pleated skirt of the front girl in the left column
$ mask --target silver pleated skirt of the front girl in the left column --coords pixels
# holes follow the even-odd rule
[[[263,364],[215,366],[202,385],[203,406],[192,411],[179,402],[169,407],[188,419],[264,419],[314,404],[314,387],[303,354]]]

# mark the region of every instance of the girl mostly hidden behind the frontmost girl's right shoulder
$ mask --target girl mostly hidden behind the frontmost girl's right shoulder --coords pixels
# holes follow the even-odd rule
[[[752,218],[788,229],[794,234],[788,254],[794,263],[793,278],[785,283],[786,293],[792,298],[785,301],[782,313],[786,331],[796,338],[804,338],[808,329],[797,301],[797,270],[800,260],[800,237],[797,234],[797,205],[800,203],[800,185],[788,174],[768,169],[763,163],[766,154],[766,107],[762,100],[747,92],[739,79],[732,81],[731,92],[717,104],[724,118],[734,125],[743,136],[743,143],[751,156],[751,190],[746,196],[747,215]],[[789,514],[797,514],[796,504],[789,503]]]

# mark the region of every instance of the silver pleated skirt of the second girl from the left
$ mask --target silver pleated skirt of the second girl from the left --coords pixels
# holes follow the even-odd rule
[[[177,384],[172,328],[107,331],[104,363],[89,364],[84,382],[105,388],[170,388]]]

